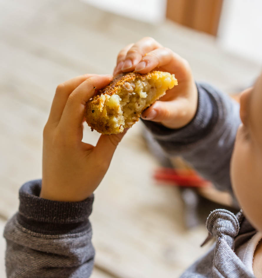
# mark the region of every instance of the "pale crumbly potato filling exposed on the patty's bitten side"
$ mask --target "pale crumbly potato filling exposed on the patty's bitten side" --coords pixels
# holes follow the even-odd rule
[[[125,82],[117,94],[100,96],[99,110],[117,133],[122,132],[124,128],[131,127],[138,120],[138,115],[169,87],[177,85],[176,82],[170,75],[159,74],[154,74],[145,81],[137,78]]]

